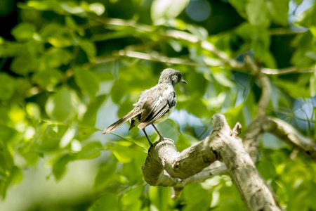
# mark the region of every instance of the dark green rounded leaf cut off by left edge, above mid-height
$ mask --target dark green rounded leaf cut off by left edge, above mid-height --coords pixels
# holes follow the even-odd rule
[[[4,72],[0,72],[0,99],[8,100],[14,94],[14,79]]]

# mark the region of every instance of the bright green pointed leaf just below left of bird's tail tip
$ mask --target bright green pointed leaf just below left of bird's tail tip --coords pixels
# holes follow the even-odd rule
[[[100,151],[103,150],[102,143],[100,141],[87,143],[81,151],[77,153],[77,159],[93,159],[100,155]]]

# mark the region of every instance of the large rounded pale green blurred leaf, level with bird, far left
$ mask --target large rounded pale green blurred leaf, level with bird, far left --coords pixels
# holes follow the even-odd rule
[[[53,120],[70,120],[77,113],[77,96],[69,88],[62,87],[49,96],[45,110]]]

